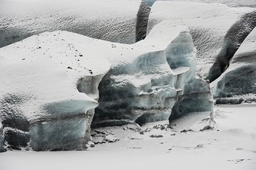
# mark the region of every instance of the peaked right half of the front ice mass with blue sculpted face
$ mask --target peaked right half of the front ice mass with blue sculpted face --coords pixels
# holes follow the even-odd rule
[[[161,22],[135,44],[113,44],[111,69],[99,84],[92,125],[139,125],[212,110],[208,83],[195,78],[196,49],[188,29]],[[173,110],[172,110],[173,108]]]

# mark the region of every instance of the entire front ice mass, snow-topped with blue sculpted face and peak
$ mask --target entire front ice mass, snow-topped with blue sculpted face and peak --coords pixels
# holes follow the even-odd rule
[[[188,29],[170,22],[134,44],[46,32],[0,48],[0,61],[1,119],[14,149],[83,150],[90,124],[172,122],[214,104],[195,77]]]

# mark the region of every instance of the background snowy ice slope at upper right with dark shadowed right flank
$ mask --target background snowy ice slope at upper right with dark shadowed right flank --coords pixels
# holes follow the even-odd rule
[[[148,19],[147,34],[163,20],[172,24],[183,22],[189,28],[198,50],[197,74],[212,82],[228,67],[233,54],[256,26],[256,10],[222,4],[157,1]]]

